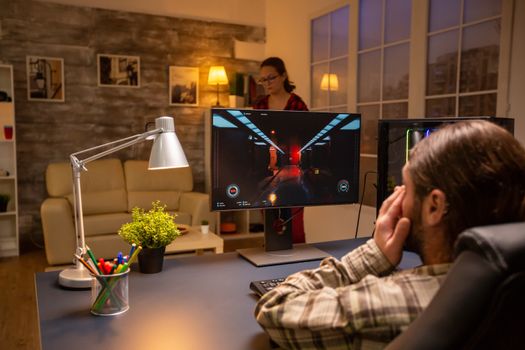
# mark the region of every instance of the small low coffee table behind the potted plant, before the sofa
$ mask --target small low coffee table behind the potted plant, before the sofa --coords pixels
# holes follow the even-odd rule
[[[177,237],[166,246],[166,254],[196,251],[197,254],[205,249],[212,249],[215,253],[222,253],[224,241],[216,234],[201,233],[200,226],[191,226],[188,233]]]

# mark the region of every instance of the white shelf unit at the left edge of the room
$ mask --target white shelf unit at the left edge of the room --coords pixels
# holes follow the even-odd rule
[[[13,66],[0,64],[0,195],[10,199],[0,212],[0,257],[19,254]]]

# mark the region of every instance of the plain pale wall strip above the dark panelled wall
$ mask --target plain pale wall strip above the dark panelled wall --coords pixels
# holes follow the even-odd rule
[[[265,0],[39,0],[73,6],[264,27]]]

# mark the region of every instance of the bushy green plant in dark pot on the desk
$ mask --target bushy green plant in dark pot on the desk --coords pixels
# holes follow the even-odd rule
[[[143,273],[162,271],[166,246],[180,236],[173,221],[175,215],[167,213],[166,206],[159,201],[152,203],[149,211],[133,208],[132,221],[119,229],[118,234],[129,244],[140,244],[139,269]]]

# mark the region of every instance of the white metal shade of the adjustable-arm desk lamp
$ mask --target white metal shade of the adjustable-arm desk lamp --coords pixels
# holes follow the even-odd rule
[[[155,119],[155,128],[164,131],[158,134],[153,141],[148,169],[167,169],[187,167],[188,161],[184,150],[175,134],[175,123],[171,117]]]

